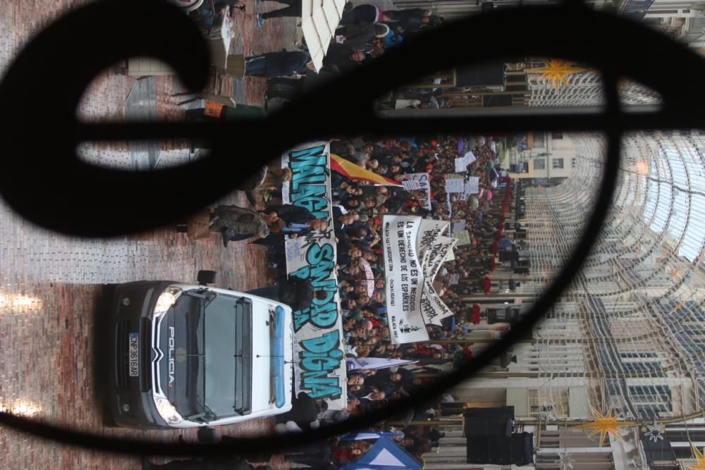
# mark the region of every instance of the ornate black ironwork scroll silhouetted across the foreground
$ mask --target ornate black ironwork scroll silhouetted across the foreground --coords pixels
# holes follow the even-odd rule
[[[655,54],[669,66],[654,67]],[[203,39],[190,20],[161,0],[106,0],[68,13],[32,39],[8,70],[0,85],[0,107],[6,111],[6,159],[0,171],[0,192],[33,223],[83,237],[111,237],[155,228],[227,194],[247,173],[288,147],[333,135],[410,135],[468,129],[600,130],[608,136],[608,149],[601,192],[582,242],[525,319],[460,371],[439,379],[432,388],[391,402],[379,412],[309,433],[278,436],[276,440],[243,438],[213,445],[114,440],[0,413],[4,426],[114,452],[213,455],[277,450],[370,426],[413,404],[433,399],[470,378],[532,328],[580,269],[611,201],[620,135],[626,130],[705,127],[705,116],[699,114],[705,109],[705,94],[699,88],[705,79],[705,61],[646,27],[590,10],[578,2],[483,13],[444,25],[263,120],[207,124],[78,122],[75,109],[90,81],[99,71],[128,56],[154,56],[166,61],[190,89],[202,87],[207,77]],[[525,56],[570,59],[602,70],[607,90],[603,112],[390,119],[380,118],[373,111],[375,97],[434,70]],[[34,92],[45,88],[49,76],[56,92]],[[616,91],[620,76],[660,92],[661,110],[638,114],[620,110]],[[330,118],[333,113],[334,120]],[[76,155],[77,145],[85,141],[179,138],[209,141],[212,156],[178,168],[140,173],[97,168]],[[68,178],[59,179],[59,174]],[[20,180],[21,185],[17,183]]]

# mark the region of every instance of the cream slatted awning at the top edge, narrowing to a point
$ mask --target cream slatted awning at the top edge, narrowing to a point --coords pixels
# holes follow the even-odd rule
[[[347,0],[302,0],[301,29],[316,71],[323,67],[323,58],[336,35],[346,3]]]

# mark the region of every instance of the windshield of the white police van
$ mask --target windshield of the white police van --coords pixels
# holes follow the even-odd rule
[[[204,405],[217,418],[247,414],[252,402],[252,302],[218,294],[207,304],[204,323]]]

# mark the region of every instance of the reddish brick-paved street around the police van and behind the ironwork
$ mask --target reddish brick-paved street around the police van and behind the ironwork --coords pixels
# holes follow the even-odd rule
[[[33,32],[81,3],[0,2],[0,73]],[[262,11],[277,7],[262,6]],[[264,29],[256,30],[254,2],[247,4],[247,13],[236,14],[235,51],[249,54],[281,50],[285,44],[281,20],[270,20]],[[291,23],[294,20],[289,21],[288,30],[295,30]],[[51,77],[46,79],[46,92],[61,92],[51,89]],[[262,79],[226,78],[222,84],[223,94],[250,104],[262,104],[263,89]],[[86,92],[80,116],[87,120],[178,119],[183,111],[177,108],[177,99],[170,96],[177,91],[182,89],[171,78],[137,82],[106,70]],[[169,142],[87,145],[81,155],[92,163],[125,169],[176,165],[195,158],[187,148]],[[240,193],[231,194],[226,201],[245,204]],[[102,425],[102,413],[94,400],[99,385],[94,369],[103,366],[94,362],[96,347],[102,346],[94,345],[94,315],[100,314],[97,297],[101,285],[140,279],[194,281],[199,269],[212,269],[219,273],[219,286],[247,290],[266,283],[263,255],[263,247],[240,242],[224,249],[219,237],[190,242],[185,235],[167,229],[115,240],[63,237],[30,225],[0,202],[0,407],[104,435],[176,440],[178,433],[144,433]],[[267,433],[273,426],[271,421],[257,420],[223,431],[228,435],[255,435]],[[195,433],[185,436],[193,440]],[[139,466],[134,457],[86,452],[0,428],[0,468]],[[283,467],[276,460],[273,466]]]

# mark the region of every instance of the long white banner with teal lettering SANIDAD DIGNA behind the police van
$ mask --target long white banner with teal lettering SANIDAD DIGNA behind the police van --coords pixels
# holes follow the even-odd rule
[[[316,218],[325,218],[329,229],[286,240],[286,272],[308,279],[314,290],[326,292],[311,307],[293,312],[295,392],[326,400],[329,409],[347,406],[347,371],[343,351],[343,326],[338,307],[336,242],[331,206],[329,142],[311,142],[282,156],[291,179],[282,192],[286,204],[305,207]]]

